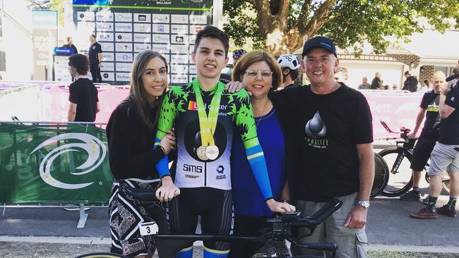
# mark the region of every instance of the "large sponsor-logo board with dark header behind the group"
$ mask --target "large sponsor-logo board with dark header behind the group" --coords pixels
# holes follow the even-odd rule
[[[152,49],[167,59],[171,85],[183,85],[196,78],[190,54],[212,7],[212,0],[73,0],[73,22],[101,44],[103,82],[127,84],[137,54]]]

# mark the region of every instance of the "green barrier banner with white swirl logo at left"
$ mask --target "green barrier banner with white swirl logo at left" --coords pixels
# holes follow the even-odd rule
[[[0,202],[107,204],[107,152],[95,125],[0,123]]]

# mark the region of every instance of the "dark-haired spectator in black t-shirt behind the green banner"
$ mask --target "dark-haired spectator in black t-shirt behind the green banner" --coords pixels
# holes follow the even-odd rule
[[[68,58],[70,74],[76,78],[69,89],[68,121],[94,122],[95,114],[100,111],[97,89],[88,79],[88,58],[82,54],[73,54]]]

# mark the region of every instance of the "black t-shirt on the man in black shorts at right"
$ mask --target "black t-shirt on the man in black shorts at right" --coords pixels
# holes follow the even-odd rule
[[[422,101],[419,107],[426,110],[426,120],[422,135],[429,137],[439,137],[440,128],[440,113],[439,113],[440,93],[435,93],[434,90],[429,90],[422,96]]]

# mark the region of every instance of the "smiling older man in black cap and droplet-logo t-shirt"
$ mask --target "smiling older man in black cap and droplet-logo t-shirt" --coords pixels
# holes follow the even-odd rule
[[[295,206],[313,214],[333,197],[344,203],[302,242],[335,242],[338,257],[366,257],[366,211],[374,180],[371,112],[362,93],[335,82],[339,66],[333,42],[314,37],[304,44],[302,67],[310,87],[275,92],[273,102],[291,105],[294,159],[287,159]],[[290,164],[293,162],[294,164]],[[298,235],[307,233],[299,228]],[[294,247],[292,253],[321,252]]]

